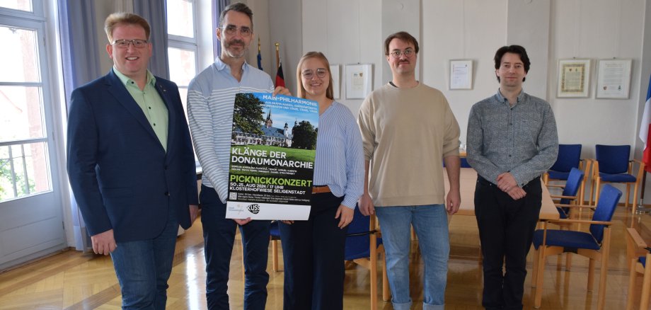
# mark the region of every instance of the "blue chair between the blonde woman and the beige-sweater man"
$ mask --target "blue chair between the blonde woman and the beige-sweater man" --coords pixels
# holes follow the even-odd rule
[[[382,299],[388,300],[388,280],[382,239],[378,237],[375,214],[367,217],[355,207],[355,215],[348,224],[345,260],[369,269],[371,273],[371,310],[377,309],[377,256],[382,260]]]

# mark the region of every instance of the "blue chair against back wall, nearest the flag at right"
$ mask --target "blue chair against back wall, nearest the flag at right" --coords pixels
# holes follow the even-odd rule
[[[596,193],[594,203],[599,202],[599,188],[602,183],[624,183],[626,184],[626,207],[630,197],[630,185],[633,188],[633,214],[635,205],[638,203],[638,192],[640,181],[644,173],[644,163],[638,160],[628,160],[630,156],[630,145],[600,145],[595,147],[597,160],[592,166],[592,188],[590,189],[590,202],[592,195]],[[633,163],[638,163],[638,171],[633,175]]]

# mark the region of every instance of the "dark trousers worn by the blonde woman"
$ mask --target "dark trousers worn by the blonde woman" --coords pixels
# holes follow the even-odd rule
[[[335,219],[343,197],[313,194],[307,221],[280,224],[285,310],[343,309],[347,226]]]

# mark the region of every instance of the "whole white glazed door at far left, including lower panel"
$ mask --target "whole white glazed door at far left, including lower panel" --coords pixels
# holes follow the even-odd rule
[[[45,13],[54,1],[0,0],[0,270],[67,246]]]

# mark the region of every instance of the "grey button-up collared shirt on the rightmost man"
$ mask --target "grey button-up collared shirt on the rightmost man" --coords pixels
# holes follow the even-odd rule
[[[524,91],[513,106],[499,90],[473,105],[466,140],[468,163],[492,183],[510,172],[522,187],[547,171],[558,155],[551,106]]]

